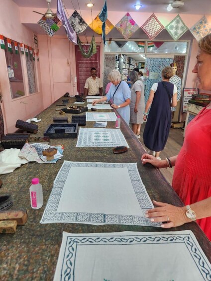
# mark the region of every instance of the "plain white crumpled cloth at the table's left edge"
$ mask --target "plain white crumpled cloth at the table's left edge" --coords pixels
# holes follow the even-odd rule
[[[0,152],[0,175],[11,173],[22,164],[29,162],[20,158],[19,153],[20,149],[17,148],[5,149]]]

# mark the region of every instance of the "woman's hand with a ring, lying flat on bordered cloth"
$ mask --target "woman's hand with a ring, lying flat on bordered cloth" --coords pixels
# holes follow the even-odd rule
[[[167,222],[161,225],[163,228],[170,228],[183,225],[188,221],[185,214],[186,207],[176,207],[171,204],[152,201],[156,208],[145,212],[145,217],[151,222]]]

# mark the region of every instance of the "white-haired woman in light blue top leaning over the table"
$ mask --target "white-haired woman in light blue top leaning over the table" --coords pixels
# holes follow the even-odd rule
[[[111,107],[115,108],[124,121],[129,125],[130,121],[130,88],[125,81],[121,81],[121,74],[117,70],[112,70],[107,79],[112,83],[108,93],[101,99],[94,99],[93,105],[102,101],[111,101]]]

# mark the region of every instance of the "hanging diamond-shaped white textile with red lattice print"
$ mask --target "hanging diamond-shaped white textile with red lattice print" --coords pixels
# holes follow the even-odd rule
[[[141,28],[149,39],[154,39],[164,29],[164,26],[153,13],[147,21],[144,22]]]

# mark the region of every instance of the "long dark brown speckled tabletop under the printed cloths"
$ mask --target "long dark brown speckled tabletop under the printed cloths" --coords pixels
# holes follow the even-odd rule
[[[61,104],[60,98],[43,112],[36,116],[41,119],[38,125],[37,136],[42,136],[46,128],[53,123],[53,117],[67,116],[71,122],[71,115],[59,115],[56,104]],[[68,105],[75,101],[69,97]],[[89,110],[90,111],[90,110]],[[99,110],[103,112],[104,110]],[[110,110],[111,111],[111,110]],[[82,113],[85,114],[85,113]],[[81,114],[80,114],[81,115]],[[94,122],[87,122],[86,127],[93,127]],[[114,128],[115,122],[108,122],[107,128]],[[168,231],[162,228],[129,226],[129,225],[102,225],[75,223],[40,224],[39,221],[45,209],[48,197],[53,187],[53,181],[61,168],[63,161],[80,162],[110,162],[134,163],[137,162],[138,171],[151,199],[182,206],[182,202],[165,181],[158,169],[140,162],[145,152],[140,141],[130,128],[121,120],[121,131],[124,134],[129,149],[123,154],[113,154],[112,148],[76,147],[77,139],[51,139],[50,145],[64,145],[64,157],[56,164],[28,163],[14,170],[13,173],[1,175],[3,186],[0,194],[11,194],[12,209],[24,208],[28,213],[28,221],[24,226],[18,226],[15,234],[0,235],[0,280],[39,281],[53,280],[59,249],[62,242],[62,232],[97,233],[119,231]],[[43,187],[44,204],[41,209],[34,210],[30,205],[29,187],[32,178],[39,178]],[[190,229],[198,239],[202,249],[211,261],[211,244],[197,223],[192,222],[181,227],[169,229]],[[168,265],[166,265],[168,266]]]

